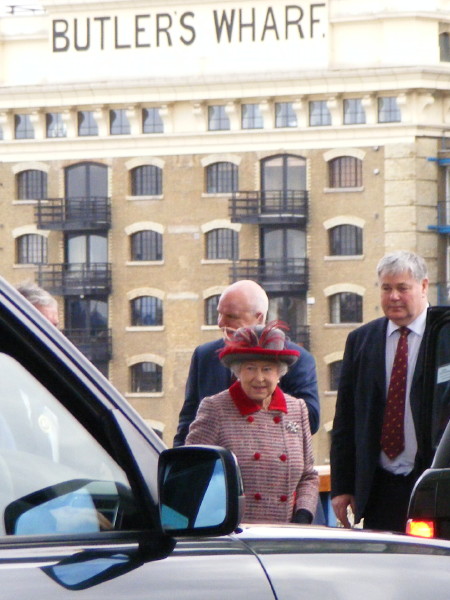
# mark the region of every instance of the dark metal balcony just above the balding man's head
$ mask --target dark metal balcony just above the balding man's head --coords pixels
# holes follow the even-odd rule
[[[306,292],[308,261],[306,258],[257,258],[239,260],[230,268],[231,282],[253,279],[266,292]]]

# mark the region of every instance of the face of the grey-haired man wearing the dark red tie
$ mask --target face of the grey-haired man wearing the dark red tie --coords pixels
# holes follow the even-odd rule
[[[428,304],[428,279],[417,281],[409,272],[380,277],[381,307],[396,325],[409,325]]]

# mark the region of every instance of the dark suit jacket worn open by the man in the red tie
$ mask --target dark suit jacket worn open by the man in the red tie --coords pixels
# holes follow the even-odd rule
[[[331,496],[355,496],[356,522],[364,516],[381,452],[381,429],[386,404],[387,324],[388,319],[381,317],[349,334],[339,381],[331,438]],[[423,353],[422,343],[410,393],[418,444]],[[420,448],[416,468],[421,470]]]

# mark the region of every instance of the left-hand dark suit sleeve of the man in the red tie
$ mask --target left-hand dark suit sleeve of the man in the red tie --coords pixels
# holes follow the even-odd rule
[[[345,345],[331,433],[331,497],[355,494],[355,388],[354,336]]]

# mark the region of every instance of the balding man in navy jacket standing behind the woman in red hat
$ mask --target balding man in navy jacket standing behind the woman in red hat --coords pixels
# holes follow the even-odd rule
[[[264,323],[268,306],[267,294],[261,286],[251,280],[237,281],[228,286],[219,299],[218,325],[226,334],[227,330],[234,331],[239,327]],[[194,351],[174,446],[184,444],[189,425],[195,419],[200,401],[230,386],[231,371],[223,366],[218,356],[223,346],[222,338],[202,344]],[[299,350],[300,358],[281,378],[280,387],[291,396],[305,400],[311,433],[315,433],[319,427],[320,405],[314,358],[307,350],[292,342],[288,342],[286,347]]]

